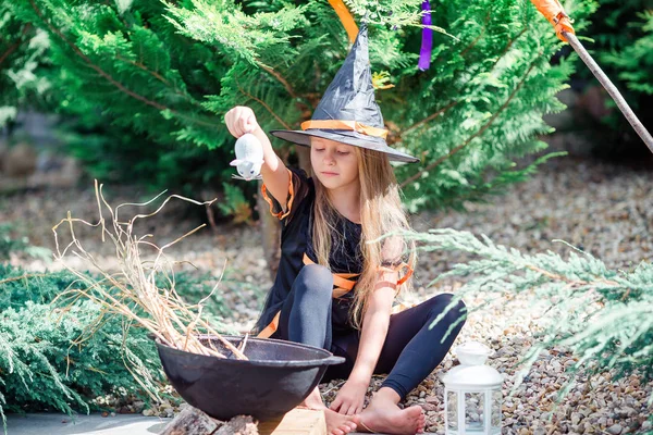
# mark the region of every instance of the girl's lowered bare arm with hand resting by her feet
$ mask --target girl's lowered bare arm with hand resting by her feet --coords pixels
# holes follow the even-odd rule
[[[398,272],[379,272],[379,279],[362,318],[358,356],[349,378],[331,403],[334,411],[349,415],[362,411],[365,394],[387,335],[397,279]]]

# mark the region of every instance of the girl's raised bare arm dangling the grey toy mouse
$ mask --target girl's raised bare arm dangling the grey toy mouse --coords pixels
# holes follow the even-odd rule
[[[254,111],[245,105],[236,105],[224,115],[224,122],[230,133],[238,138],[246,133],[254,134],[263,147],[263,165],[261,176],[268,191],[286,208],[288,197],[288,171],[272,149],[272,144],[256,121]]]

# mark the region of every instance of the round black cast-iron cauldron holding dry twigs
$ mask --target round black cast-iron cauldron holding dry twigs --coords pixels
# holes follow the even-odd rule
[[[223,336],[239,347],[243,337]],[[227,358],[207,357],[157,343],[170,383],[188,403],[218,420],[238,414],[260,421],[285,414],[308,397],[326,368],[345,361],[297,343],[248,338],[237,360],[215,337],[202,336]]]

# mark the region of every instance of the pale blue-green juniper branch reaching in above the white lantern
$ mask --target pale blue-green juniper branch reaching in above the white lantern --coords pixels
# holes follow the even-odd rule
[[[617,377],[639,372],[643,382],[653,380],[653,264],[642,262],[631,271],[612,271],[583,251],[571,252],[566,261],[551,251],[523,254],[494,245],[486,236],[477,238],[454,229],[407,236],[423,244],[419,250],[473,256],[435,279],[466,276],[466,284],[454,299],[481,294],[486,299],[469,308],[470,312],[500,297],[519,294],[545,312],[547,328],[523,356],[520,375],[528,373],[542,349],[559,345],[579,357],[572,372],[581,368],[589,373],[613,369]],[[505,303],[509,307],[510,302]],[[571,386],[567,385],[560,396]]]

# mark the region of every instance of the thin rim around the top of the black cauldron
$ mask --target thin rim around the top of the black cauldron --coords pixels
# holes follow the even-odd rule
[[[236,335],[222,335],[223,338],[225,339],[243,339],[243,336],[236,336]],[[319,365],[333,365],[333,364],[340,364],[345,362],[345,359],[343,357],[336,357],[333,353],[331,353],[329,350],[316,347],[316,346],[310,346],[310,345],[304,345],[304,344],[298,344],[298,343],[293,343],[293,341],[287,341],[287,340],[282,340],[282,339],[276,339],[276,338],[256,338],[256,337],[249,337],[247,338],[247,340],[254,340],[254,341],[272,341],[273,344],[278,344],[284,347],[294,347],[294,348],[301,348],[301,349],[313,349],[319,351],[320,353],[324,355],[324,358],[319,358],[319,359],[312,359],[312,360],[300,360],[300,361],[292,361],[292,360],[238,360],[238,359],[227,359],[227,358],[218,358],[218,357],[211,357],[211,356],[206,356],[206,355],[199,355],[199,353],[193,353],[186,350],[182,350],[182,349],[176,349],[174,347],[170,347],[168,345],[164,345],[162,343],[159,341],[158,338],[156,338],[155,336],[150,336],[150,338],[152,338],[155,340],[155,344],[157,345],[157,347],[164,349],[165,352],[174,352],[174,353],[180,353],[180,355],[193,355],[194,357],[200,358],[200,359],[211,359],[211,360],[219,360],[221,364],[232,364],[232,365],[254,365],[254,366],[278,366],[278,368],[287,368],[287,366],[294,366],[294,368],[311,368],[311,366],[319,366]],[[202,339],[208,339],[208,338],[215,338],[214,335],[208,335],[208,334],[202,334],[202,335],[198,335],[198,338]]]

